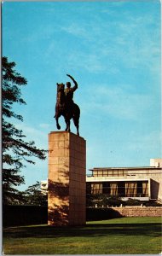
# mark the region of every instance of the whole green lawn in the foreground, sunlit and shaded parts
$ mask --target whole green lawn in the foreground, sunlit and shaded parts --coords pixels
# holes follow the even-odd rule
[[[115,218],[85,226],[3,230],[4,254],[159,254],[161,218]]]

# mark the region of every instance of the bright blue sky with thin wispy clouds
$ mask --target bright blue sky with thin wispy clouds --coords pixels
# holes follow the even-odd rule
[[[87,171],[149,166],[161,157],[159,1],[5,2],[3,55],[28,81],[21,90],[27,105],[14,107],[28,141],[48,148],[48,133],[57,131],[56,83],[70,73]],[[48,160],[36,159],[22,174],[23,189],[46,179]]]

